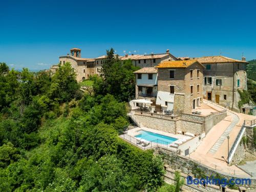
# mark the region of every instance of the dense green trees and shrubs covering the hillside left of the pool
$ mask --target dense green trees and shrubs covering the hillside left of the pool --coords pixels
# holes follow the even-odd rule
[[[0,70],[0,191],[156,191],[162,185],[162,160],[118,137],[129,124],[121,101],[134,86],[124,83],[134,81],[130,63],[126,80],[115,85],[92,77],[93,96],[82,96],[69,63],[53,77],[9,71],[3,63]]]

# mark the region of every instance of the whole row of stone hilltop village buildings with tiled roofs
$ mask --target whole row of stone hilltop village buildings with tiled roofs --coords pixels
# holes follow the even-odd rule
[[[65,62],[70,62],[76,73],[76,79],[80,82],[88,79],[90,75],[99,75],[105,57],[103,55],[97,58],[82,58],[81,50],[73,48],[66,56],[59,57],[59,63],[63,65]],[[202,99],[206,99],[232,111],[240,111],[238,90],[247,89],[246,64],[248,62],[245,57],[242,60],[222,55],[199,58],[175,57],[168,49],[159,54],[125,54],[118,57],[120,60],[131,59],[134,66],[141,68],[141,71],[136,72],[136,98],[147,95],[147,98],[154,100],[157,94],[163,94],[162,91],[175,93],[178,97],[178,94],[182,92],[184,94],[185,90],[181,92],[178,84],[177,86],[168,84],[176,82],[183,84],[186,93],[193,94],[193,97],[190,97],[190,104],[186,105],[189,109],[196,109]],[[160,63],[161,65],[158,66]],[[55,73],[57,68],[58,66],[55,65],[50,70]],[[158,83],[160,83],[159,86]],[[167,87],[163,88],[163,84]],[[171,109],[172,103],[169,102],[169,98],[162,100],[162,106],[166,101],[168,102],[165,106],[169,105],[168,109]]]

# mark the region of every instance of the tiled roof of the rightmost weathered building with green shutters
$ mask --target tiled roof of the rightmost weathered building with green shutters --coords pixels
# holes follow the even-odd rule
[[[243,63],[248,63],[246,61],[232,59],[232,58],[229,58],[229,57],[224,57],[222,55],[220,55],[220,56],[198,57],[198,58],[195,58],[195,59],[197,59],[201,63],[224,63],[224,62],[243,62]]]

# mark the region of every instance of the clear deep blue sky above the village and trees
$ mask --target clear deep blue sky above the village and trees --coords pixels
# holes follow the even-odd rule
[[[256,1],[2,1],[0,62],[48,69],[70,48],[256,59]]]

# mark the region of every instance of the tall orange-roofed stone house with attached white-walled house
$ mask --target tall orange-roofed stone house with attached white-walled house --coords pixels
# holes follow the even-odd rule
[[[163,110],[190,114],[202,102],[203,69],[197,60],[163,61],[155,68],[142,68],[134,72],[136,99],[155,99]]]

